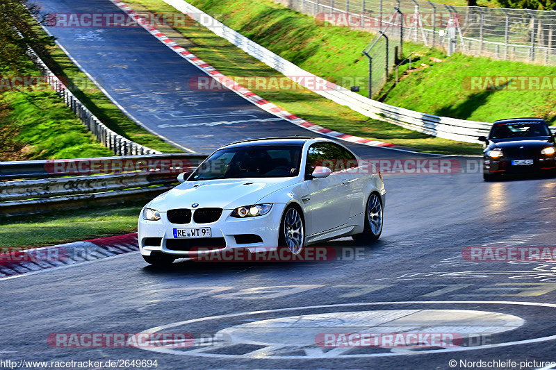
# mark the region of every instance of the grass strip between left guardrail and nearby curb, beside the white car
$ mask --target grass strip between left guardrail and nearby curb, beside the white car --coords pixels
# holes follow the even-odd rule
[[[145,201],[0,218],[0,246],[23,249],[134,233],[142,205]]]

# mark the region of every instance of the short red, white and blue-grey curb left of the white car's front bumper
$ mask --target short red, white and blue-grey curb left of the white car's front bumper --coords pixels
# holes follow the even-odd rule
[[[115,257],[139,250],[137,233],[99,237],[24,251],[10,251],[0,247],[0,280],[24,274],[34,274],[72,264],[83,264],[101,258]]]

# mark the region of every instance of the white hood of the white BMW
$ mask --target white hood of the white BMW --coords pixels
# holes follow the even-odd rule
[[[199,208],[229,210],[255,204],[264,196],[299,182],[297,177],[186,181],[157,196],[148,207],[166,212],[174,208],[193,208],[193,203],[197,203]]]

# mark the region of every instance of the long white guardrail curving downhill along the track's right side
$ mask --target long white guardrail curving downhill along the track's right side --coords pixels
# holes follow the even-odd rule
[[[392,124],[409,128],[410,130],[419,131],[427,135],[443,137],[450,140],[458,140],[461,142],[479,143],[477,137],[487,135],[491,127],[490,123],[480,121],[467,121],[464,119],[455,119],[450,117],[440,117],[435,115],[427,115],[425,113],[416,112],[405,108],[389,106],[388,104],[374,101],[361,96],[356,92],[347,90],[345,87],[334,85],[332,83],[324,83],[322,85],[332,86],[328,89],[315,88],[315,81],[318,76],[297,67],[292,62],[281,58],[272,51],[253,42],[247,37],[234,31],[228,26],[222,24],[210,15],[206,14],[199,8],[191,5],[184,0],[164,0],[165,3],[173,6],[177,10],[193,17],[195,21],[213,31],[216,35],[223,37],[232,44],[236,45],[254,58],[261,60],[269,67],[276,69],[285,76],[307,76],[309,78],[296,78],[300,84],[307,89],[324,96],[327,99],[335,101],[338,104],[347,106],[356,112],[366,115],[374,119],[388,121]]]

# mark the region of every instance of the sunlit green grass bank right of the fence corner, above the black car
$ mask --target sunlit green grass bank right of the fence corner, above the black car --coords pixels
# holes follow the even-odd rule
[[[491,122],[512,117],[541,117],[550,124],[556,121],[556,90],[470,88],[472,76],[554,76],[554,67],[461,54],[448,57],[439,51],[411,44],[406,50],[407,53],[416,52],[413,65],[417,68],[386,95],[384,103],[472,121]]]

